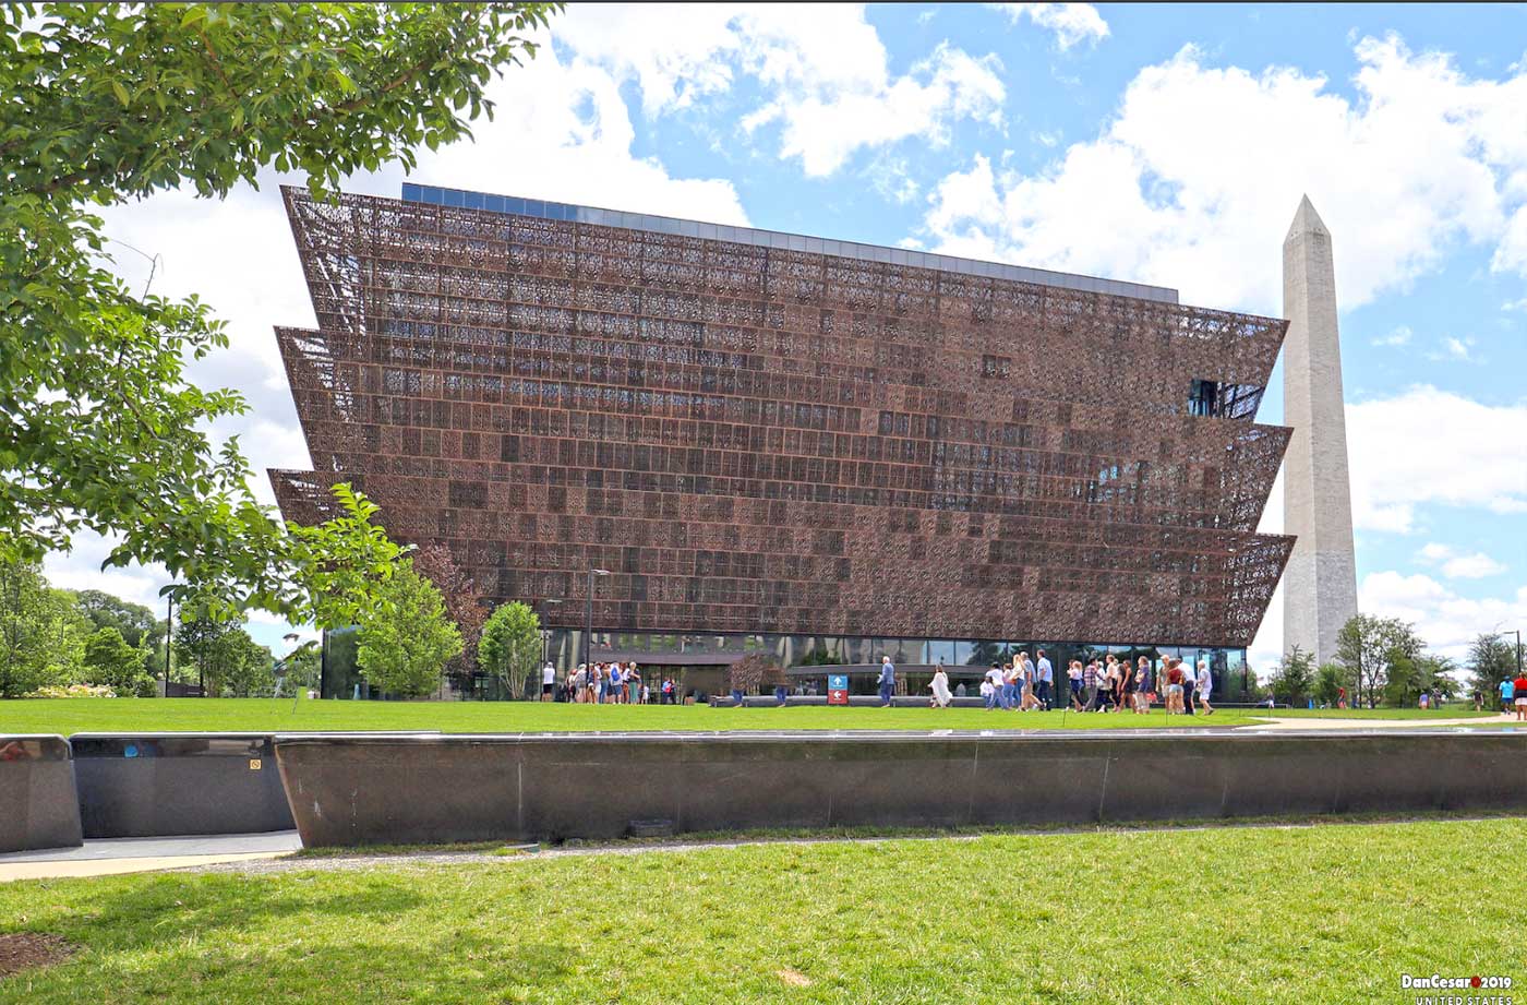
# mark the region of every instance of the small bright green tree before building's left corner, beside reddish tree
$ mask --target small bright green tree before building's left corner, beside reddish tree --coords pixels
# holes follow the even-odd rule
[[[392,695],[434,690],[446,663],[461,652],[461,632],[446,616],[440,590],[403,561],[380,597],[383,605],[360,620],[360,672]]]

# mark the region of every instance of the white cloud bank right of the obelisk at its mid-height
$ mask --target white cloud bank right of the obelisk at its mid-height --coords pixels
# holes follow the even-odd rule
[[[1409,533],[1417,507],[1527,513],[1527,403],[1432,386],[1347,405],[1353,522]]]

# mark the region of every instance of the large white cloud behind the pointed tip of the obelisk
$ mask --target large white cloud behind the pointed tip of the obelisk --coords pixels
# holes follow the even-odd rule
[[[994,174],[977,156],[945,179],[980,191],[936,196],[928,243],[1278,313],[1278,247],[1304,192],[1335,234],[1347,309],[1457,243],[1507,240],[1527,205],[1527,75],[1471,78],[1394,37],[1364,38],[1356,57],[1348,99],[1324,76],[1214,67],[1188,46],[1141,70],[1101,134],[1046,168]]]

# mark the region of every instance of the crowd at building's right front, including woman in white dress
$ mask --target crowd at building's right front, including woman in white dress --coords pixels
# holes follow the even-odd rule
[[[1029,660],[1028,652],[1012,657],[1008,664],[993,663],[980,681],[980,696],[986,710],[1048,712],[1057,707],[1054,695],[1055,669],[1044,651]],[[1069,707],[1075,712],[1133,712],[1144,715],[1151,704],[1162,703],[1173,715],[1214,715],[1209,693],[1214,675],[1208,660],[1199,660],[1197,669],[1171,657],[1153,664],[1148,657],[1133,663],[1109,655],[1104,661],[1072,660],[1066,667],[1070,686]],[[933,706],[948,707],[948,674],[941,663],[933,672]]]

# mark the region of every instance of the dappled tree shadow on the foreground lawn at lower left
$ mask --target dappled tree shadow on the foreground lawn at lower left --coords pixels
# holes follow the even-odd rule
[[[0,1002],[538,1000],[577,958],[571,945],[470,930],[472,916],[452,926],[395,874],[347,877],[341,892],[301,875],[125,880],[69,884],[56,900],[34,887],[27,900],[47,907],[0,929],[55,933],[82,952],[0,979]],[[11,906],[0,898],[0,913]]]

